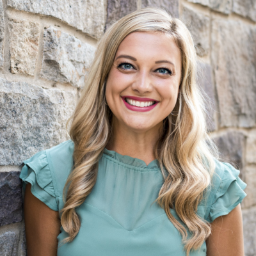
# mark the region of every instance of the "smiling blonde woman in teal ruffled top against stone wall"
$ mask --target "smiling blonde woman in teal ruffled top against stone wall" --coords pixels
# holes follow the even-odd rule
[[[24,161],[29,256],[244,255],[245,184],[216,160],[195,66],[188,29],[163,10],[106,31],[72,140]]]

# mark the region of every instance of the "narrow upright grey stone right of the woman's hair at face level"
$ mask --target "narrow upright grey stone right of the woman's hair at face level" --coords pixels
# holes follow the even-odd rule
[[[198,61],[198,84],[203,89],[205,99],[205,107],[207,111],[207,129],[212,132],[216,129],[214,120],[215,99],[214,99],[214,86],[212,84],[211,66],[207,63]],[[206,95],[205,95],[206,93]]]

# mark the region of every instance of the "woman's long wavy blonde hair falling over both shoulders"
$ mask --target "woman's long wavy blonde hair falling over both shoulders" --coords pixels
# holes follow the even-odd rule
[[[61,225],[68,234],[63,241],[72,241],[79,232],[81,222],[76,207],[83,204],[92,191],[99,159],[110,136],[113,136],[113,114],[105,104],[105,82],[120,43],[135,31],[172,36],[182,56],[182,82],[173,109],[178,114],[163,120],[163,136],[155,154],[164,175],[157,202],[179,230],[189,255],[191,250],[198,250],[211,234],[209,223],[196,211],[205,189],[211,185],[216,148],[207,136],[204,97],[196,84],[193,39],[179,19],[173,19],[166,11],[157,8],[143,8],[123,17],[108,28],[99,42],[70,127],[70,138],[74,141],[74,168],[63,190],[65,205],[61,210]],[[175,209],[186,228],[172,216],[170,208]]]

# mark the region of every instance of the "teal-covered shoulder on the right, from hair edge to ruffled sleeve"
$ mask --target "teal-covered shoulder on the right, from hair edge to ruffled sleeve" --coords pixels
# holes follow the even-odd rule
[[[204,219],[212,222],[221,215],[227,215],[246,196],[246,184],[239,178],[239,170],[229,163],[215,160],[211,185],[205,191]]]

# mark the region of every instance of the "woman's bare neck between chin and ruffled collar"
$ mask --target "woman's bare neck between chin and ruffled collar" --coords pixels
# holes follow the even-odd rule
[[[159,124],[148,131],[133,131],[113,120],[112,136],[106,148],[124,156],[141,159],[148,165],[156,159],[154,149],[157,147],[162,127],[163,124]]]

